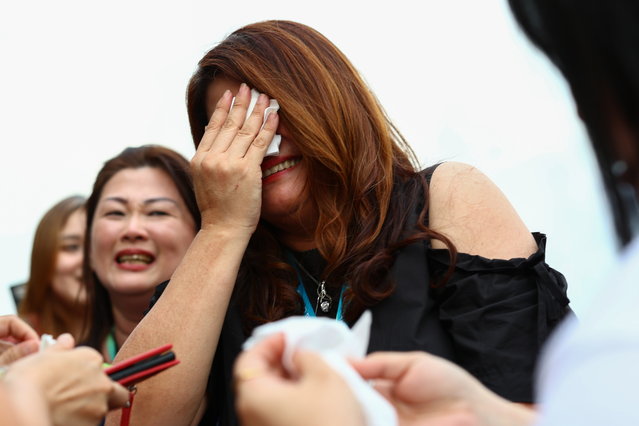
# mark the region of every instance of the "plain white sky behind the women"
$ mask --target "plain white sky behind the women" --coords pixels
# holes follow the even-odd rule
[[[10,4],[10,5],[9,5]],[[3,0],[0,9],[0,313],[26,280],[33,232],[88,195],[104,160],[158,143],[193,154],[187,81],[234,29],[291,19],[352,60],[423,165],[476,165],[569,282],[573,307],[615,246],[569,91],[502,0]]]

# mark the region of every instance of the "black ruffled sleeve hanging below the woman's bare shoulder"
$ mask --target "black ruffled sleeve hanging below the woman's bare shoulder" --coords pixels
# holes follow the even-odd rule
[[[563,275],[545,263],[546,237],[527,259],[486,259],[460,253],[451,278],[436,291],[439,318],[458,363],[495,393],[533,402],[540,349],[570,312]],[[433,271],[450,264],[448,251],[429,249]]]

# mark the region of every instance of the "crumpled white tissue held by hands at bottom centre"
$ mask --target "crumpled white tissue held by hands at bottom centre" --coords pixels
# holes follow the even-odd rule
[[[347,357],[362,358],[366,355],[371,322],[370,311],[364,312],[352,329],[342,321],[325,317],[289,317],[257,327],[243,347],[249,349],[268,336],[283,333],[286,346],[282,365],[290,374],[295,374],[293,353],[298,349],[313,351],[348,384],[361,405],[366,425],[394,426],[398,424],[395,408],[346,360]]]

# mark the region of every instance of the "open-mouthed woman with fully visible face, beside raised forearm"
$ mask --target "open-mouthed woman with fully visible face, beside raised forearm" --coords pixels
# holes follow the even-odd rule
[[[125,149],[98,173],[87,217],[87,343],[110,362],[197,232],[188,162],[160,146]]]

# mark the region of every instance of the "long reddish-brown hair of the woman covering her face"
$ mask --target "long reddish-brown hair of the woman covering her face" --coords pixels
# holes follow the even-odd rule
[[[200,60],[187,89],[197,146],[208,123],[207,88],[223,75],[280,104],[308,170],[305,193],[317,212],[315,241],[327,283],[349,283],[345,319],[353,322],[388,297],[395,253],[411,242],[438,238],[425,226],[427,183],[405,139],[344,54],[318,31],[291,21],[265,21],[233,32]],[[406,222],[420,212],[405,235]],[[299,314],[293,269],[277,235],[261,222],[238,277],[244,325]]]

